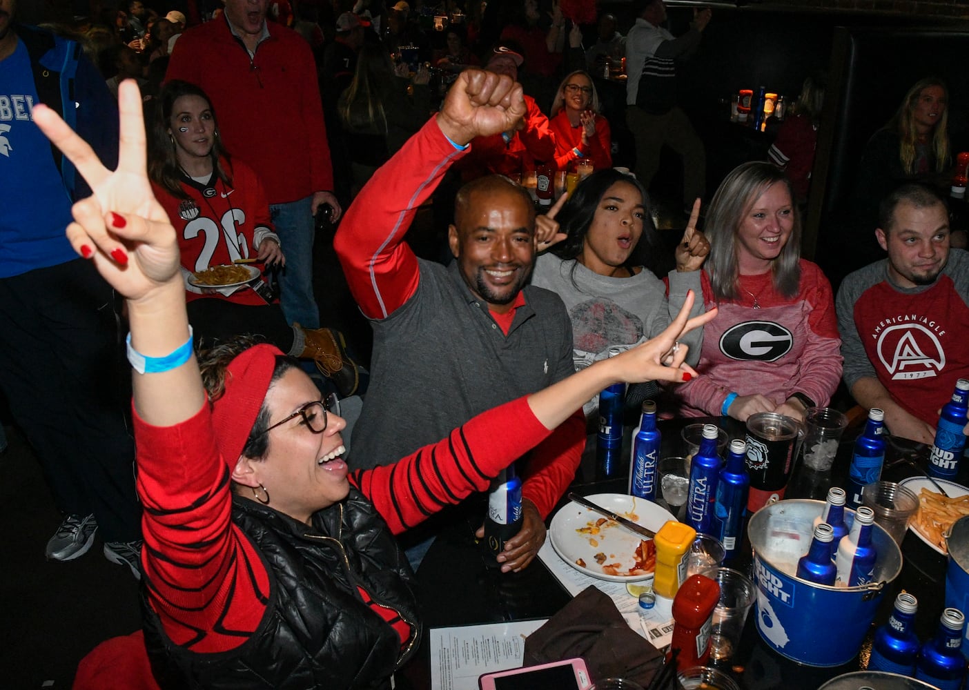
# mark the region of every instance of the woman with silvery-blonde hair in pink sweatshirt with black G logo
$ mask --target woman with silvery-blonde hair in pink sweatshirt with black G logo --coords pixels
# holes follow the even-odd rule
[[[701,377],[675,392],[681,414],[803,419],[808,407],[827,405],[841,379],[841,339],[828,278],[800,258],[791,182],[770,163],[738,166],[703,230],[703,300],[719,310],[703,329]]]

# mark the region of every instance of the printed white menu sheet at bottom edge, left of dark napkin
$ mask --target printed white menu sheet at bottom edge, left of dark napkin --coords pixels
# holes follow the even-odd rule
[[[518,668],[525,658],[525,638],[546,620],[432,628],[431,690],[478,690],[480,675]]]

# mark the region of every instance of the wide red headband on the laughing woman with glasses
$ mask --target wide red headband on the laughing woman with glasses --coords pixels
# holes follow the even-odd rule
[[[272,345],[256,345],[237,355],[226,367],[224,392],[212,403],[212,427],[215,445],[230,470],[242,455],[266,399],[276,357],[282,354]]]

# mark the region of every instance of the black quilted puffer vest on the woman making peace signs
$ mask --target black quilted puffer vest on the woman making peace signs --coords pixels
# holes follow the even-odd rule
[[[164,688],[386,688],[421,641],[414,575],[383,518],[354,488],[308,527],[233,499],[233,520],[258,547],[270,598],[256,633],[219,654],[172,644],[142,595],[144,637]],[[404,651],[357,586],[412,626]]]

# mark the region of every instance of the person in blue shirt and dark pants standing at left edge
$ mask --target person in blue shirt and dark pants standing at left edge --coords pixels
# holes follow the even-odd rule
[[[76,42],[17,24],[16,0],[0,0],[0,390],[63,514],[47,558],[82,555],[100,526],[105,555],[137,577],[122,331],[111,290],[64,236],[71,204],[90,190],[34,124],[37,103],[116,160],[104,78]]]

